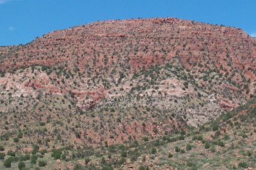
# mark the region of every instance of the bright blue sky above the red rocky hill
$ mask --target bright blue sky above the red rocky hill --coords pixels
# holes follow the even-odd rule
[[[97,20],[177,17],[256,36],[256,0],[0,0],[0,46]]]

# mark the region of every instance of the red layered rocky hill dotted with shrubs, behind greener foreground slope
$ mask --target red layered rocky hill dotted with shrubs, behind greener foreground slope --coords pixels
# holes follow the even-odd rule
[[[69,148],[63,160],[74,160],[190,132],[255,97],[255,59],[243,30],[173,18],[94,22],[0,47],[0,144],[6,154]]]

